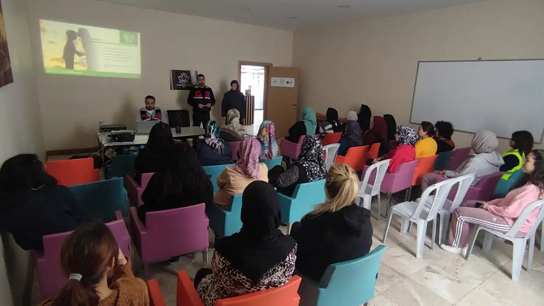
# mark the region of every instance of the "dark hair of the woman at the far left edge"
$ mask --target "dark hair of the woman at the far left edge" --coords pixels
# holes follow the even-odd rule
[[[36,154],[19,154],[4,161],[0,168],[0,194],[57,185],[57,180],[45,172]]]

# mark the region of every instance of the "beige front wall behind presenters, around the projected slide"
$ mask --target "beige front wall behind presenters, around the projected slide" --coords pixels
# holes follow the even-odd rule
[[[187,91],[171,91],[170,69],[206,74],[218,99],[238,78],[238,60],[290,66],[293,33],[242,23],[89,0],[27,0],[36,83],[47,150],[96,146],[98,120],[134,126],[135,111],[153,95],[163,110],[189,109]],[[39,19],[141,33],[142,78],[45,74]]]

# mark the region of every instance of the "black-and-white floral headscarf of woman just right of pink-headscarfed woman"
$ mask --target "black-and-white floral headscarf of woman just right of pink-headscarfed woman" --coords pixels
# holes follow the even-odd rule
[[[306,136],[300,148],[299,159],[296,162],[305,168],[306,176],[310,179],[310,182],[324,178],[327,170],[321,140],[315,136]]]

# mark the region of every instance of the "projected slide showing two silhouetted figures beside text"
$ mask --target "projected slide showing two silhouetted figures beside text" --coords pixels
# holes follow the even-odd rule
[[[40,20],[46,73],[140,78],[140,33]]]

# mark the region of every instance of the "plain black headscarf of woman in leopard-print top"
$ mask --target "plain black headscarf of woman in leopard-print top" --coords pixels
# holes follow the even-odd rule
[[[249,184],[242,195],[240,233],[215,242],[215,251],[252,282],[293,251],[295,240],[278,229],[280,202],[272,185],[262,180]]]

